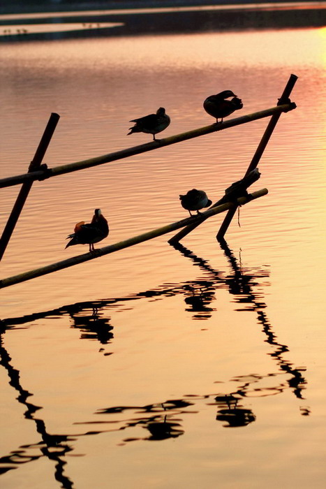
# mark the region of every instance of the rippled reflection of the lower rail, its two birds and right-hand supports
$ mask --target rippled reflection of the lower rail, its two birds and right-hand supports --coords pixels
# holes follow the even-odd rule
[[[290,361],[284,358],[284,354],[289,352],[288,346],[277,341],[277,336],[264,310],[267,305],[262,299],[262,293],[255,291],[255,287],[258,286],[257,278],[267,277],[267,273],[262,272],[262,270],[257,270],[255,273],[249,272],[249,270],[242,267],[241,263],[238,265],[237,259],[225,241],[221,242],[220,245],[232,267],[232,274],[226,277],[223,277],[218,270],[214,270],[208,261],[196,256],[183,245],[178,244],[174,245],[175,249],[191,259],[195,266],[199,266],[205,271],[206,275],[208,273],[208,277],[197,281],[185,282],[184,284],[163,285],[158,287],[158,289],[135,293],[124,298],[77,302],[73,305],[52,309],[51,311],[4,319],[0,321],[0,331],[5,331],[13,325],[17,326],[36,319],[68,314],[73,319],[73,326],[82,330],[82,339],[98,340],[101,344],[107,344],[113,338],[113,326],[110,325],[109,319],[101,317],[101,313],[98,312],[100,309],[117,307],[119,303],[125,304],[142,298],[163,298],[182,293],[185,295],[186,311],[194,313],[193,319],[207,319],[216,310],[209,307],[210,303],[215,299],[216,289],[227,287],[230,294],[235,298],[235,302],[242,306],[237,311],[256,312],[258,323],[262,326],[262,332],[265,334],[265,342],[272,346],[272,352],[268,353],[269,356],[276,360],[281,372],[290,375],[288,386],[296,397],[302,398],[302,391],[306,384],[306,379],[303,377],[302,372],[306,369],[304,367],[294,367]],[[246,305],[245,308],[243,307],[244,305]],[[90,311],[92,312],[91,314],[89,314]]]

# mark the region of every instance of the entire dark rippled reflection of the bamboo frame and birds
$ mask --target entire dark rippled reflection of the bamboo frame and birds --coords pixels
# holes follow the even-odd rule
[[[24,404],[26,408],[24,417],[34,421],[36,431],[40,435],[40,441],[37,444],[25,444],[13,449],[8,455],[1,457],[0,474],[20,467],[24,463],[47,457],[49,460],[54,461],[54,478],[61,483],[61,487],[65,489],[73,488],[73,482],[65,474],[66,461],[64,458],[66,453],[73,451],[73,441],[80,437],[98,435],[103,432],[129,432],[133,430],[139,432],[139,429],[143,429],[147,432],[146,436],[129,435],[124,437],[121,443],[126,444],[130,441],[162,441],[177,438],[184,434],[184,428],[182,427],[184,416],[200,412],[202,403],[217,409],[212,418],[222,423],[223,427],[240,428],[253,423],[256,419],[253,411],[246,407],[245,403],[248,397],[269,397],[283,393],[283,391],[290,388],[296,397],[302,399],[302,391],[306,385],[302,372],[305,369],[303,367],[294,367],[292,363],[284,358],[284,355],[290,353],[290,350],[288,346],[277,341],[276,334],[267,319],[265,312],[267,305],[262,298],[262,293],[255,291],[257,286],[260,285],[258,277],[268,277],[268,274],[263,270],[252,272],[242,267],[241,261],[238,264],[226,242],[221,243],[221,248],[228,258],[232,270],[232,273],[226,276],[218,270],[214,270],[208,261],[196,256],[189,249],[182,245],[175,245],[175,249],[186,258],[191,259],[193,265],[198,266],[205,272],[205,278],[181,284],[163,284],[157,289],[142,291],[123,298],[77,302],[73,305],[52,309],[51,311],[0,321],[0,365],[8,373],[10,386],[15,388],[18,393],[18,402]],[[103,418],[101,421],[77,423],[87,426],[96,425],[97,430],[87,430],[77,435],[75,433],[73,435],[53,435],[47,432],[45,422],[39,416],[41,407],[29,402],[29,397],[32,394],[22,388],[20,372],[11,365],[11,358],[3,347],[2,337],[6,330],[14,330],[17,325],[31,323],[31,321],[36,319],[68,316],[72,321],[73,328],[81,331],[81,340],[95,340],[105,345],[113,339],[113,326],[110,325],[110,319],[104,316],[109,309],[112,310],[121,307],[121,305],[126,307],[135,300],[161,300],[164,297],[182,294],[184,295],[185,309],[193,314],[193,319],[207,319],[216,310],[210,305],[215,300],[215,293],[218,288],[228,289],[232,298],[240,306],[236,310],[256,312],[258,324],[260,324],[262,333],[264,333],[264,341],[272,348],[272,351],[268,354],[276,361],[279,372],[265,376],[250,374],[234,377],[230,379],[235,385],[232,392],[204,395],[188,394],[177,400],[165,400],[146,406],[99,408],[96,414]],[[128,308],[130,307],[128,306]],[[17,329],[20,328],[18,327]],[[100,351],[104,351],[104,349],[101,348]],[[109,353],[104,354],[108,355]],[[280,375],[287,375],[288,379],[281,379],[280,382],[278,380]],[[273,380],[272,386],[260,387],[260,383],[263,385],[263,381],[267,378],[269,379],[269,384]],[[218,384],[221,384],[221,382],[218,382]],[[310,410],[308,407],[300,406],[299,409],[302,416],[309,416]],[[38,416],[36,416],[36,412],[38,412]],[[36,450],[38,450],[37,454]]]

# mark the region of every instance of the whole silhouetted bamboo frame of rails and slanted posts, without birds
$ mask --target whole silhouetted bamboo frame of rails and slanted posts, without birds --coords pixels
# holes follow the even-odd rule
[[[10,217],[8,222],[3,230],[3,234],[0,238],[0,260],[6,251],[6,247],[8,242],[13,234],[15,229],[15,225],[17,224],[17,220],[20,217],[20,212],[22,212],[22,208],[24,203],[26,202],[29,191],[31,190],[31,186],[35,180],[45,180],[47,178],[55,177],[58,175],[64,175],[66,173],[71,173],[73,171],[82,170],[84,168],[92,168],[94,166],[102,165],[103,163],[109,163],[111,161],[117,161],[119,159],[127,158],[128,156],[133,156],[135,154],[141,154],[144,152],[151,151],[153,149],[158,149],[164,146],[172,145],[175,143],[179,143],[181,141],[189,140],[192,138],[197,138],[198,136],[204,136],[205,134],[213,133],[216,131],[222,131],[223,129],[228,129],[230,127],[238,126],[240,124],[245,124],[246,122],[252,122],[254,120],[262,119],[264,117],[272,116],[269,120],[269,124],[265,130],[265,133],[260,140],[258,148],[253,155],[253,159],[249,164],[248,169],[244,177],[249,175],[252,170],[257,168],[258,162],[265,151],[267,143],[269,142],[270,137],[275,129],[277,122],[279,121],[279,117],[281,117],[282,112],[288,112],[296,108],[295,103],[290,101],[290,94],[292,92],[293,87],[295,86],[295,82],[297,81],[296,75],[290,75],[288,83],[283,90],[283,94],[279,98],[279,102],[275,107],[261,110],[260,112],[254,112],[249,115],[244,115],[242,117],[237,117],[235,119],[230,119],[227,122],[223,122],[222,124],[211,124],[209,126],[205,126],[199,129],[194,129],[193,131],[188,131],[186,133],[180,133],[176,136],[170,136],[169,138],[163,138],[161,140],[152,141],[151,143],[147,143],[144,145],[138,145],[135,147],[122,149],[117,152],[113,152],[110,154],[105,154],[103,156],[98,156],[96,158],[87,159],[83,161],[76,161],[75,163],[68,163],[66,165],[54,166],[53,168],[48,168],[47,165],[42,164],[43,156],[47,150],[48,145],[50,144],[50,140],[53,136],[54,130],[59,121],[59,115],[52,114],[50,116],[49,122],[45,128],[43,136],[40,140],[40,144],[38,145],[38,149],[36,150],[36,154],[34,156],[33,161],[29,166],[28,173],[23,175],[16,175],[14,177],[7,177],[0,180],[0,188],[2,187],[10,187],[17,184],[22,184],[22,188],[20,189],[20,193],[17,196],[17,200],[15,205],[13,206],[13,210],[10,213]],[[62,270],[63,268],[68,268],[77,263],[82,263],[84,261],[89,261],[94,258],[98,258],[98,256],[103,256],[105,254],[113,253],[114,251],[118,251],[119,249],[124,249],[126,247],[131,247],[133,245],[137,245],[140,242],[144,242],[147,240],[151,240],[156,238],[157,236],[164,235],[166,233],[170,233],[171,231],[175,231],[179,228],[182,228],[177,235],[173,236],[170,240],[170,244],[175,244],[184,238],[188,233],[193,231],[193,229],[197,228],[203,221],[212,217],[215,214],[219,214],[221,212],[228,211],[221,225],[220,230],[218,231],[216,238],[218,240],[223,240],[226,231],[228,230],[228,226],[232,221],[233,216],[237,210],[239,205],[244,205],[248,203],[250,200],[255,198],[259,198],[267,194],[267,189],[262,189],[253,194],[249,194],[247,196],[241,196],[239,198],[232,199],[232,201],[221,204],[221,199],[218,200],[212,207],[209,208],[206,212],[202,212],[202,214],[198,217],[189,217],[187,219],[182,219],[181,221],[177,221],[172,224],[168,224],[167,226],[163,226],[161,228],[155,229],[153,231],[149,231],[148,233],[143,233],[142,235],[135,236],[133,238],[128,238],[127,240],[115,243],[114,245],[109,245],[107,247],[103,247],[101,249],[97,249],[96,253],[87,253],[78,256],[74,256],[72,258],[68,258],[64,261],[59,261],[57,263],[52,263],[50,265],[46,265],[45,267],[38,268],[35,270],[30,270],[29,272],[23,272],[19,275],[15,275],[13,277],[8,277],[0,280],[0,289],[11,286],[13,284],[18,284],[20,282],[24,282],[29,279],[33,279],[35,277],[40,277],[41,275],[47,275],[48,273],[55,272],[57,270]]]

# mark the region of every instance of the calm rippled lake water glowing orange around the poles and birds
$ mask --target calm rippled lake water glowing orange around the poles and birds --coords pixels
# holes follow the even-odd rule
[[[244,115],[299,79],[227,247],[220,214],[1,291],[1,488],[325,488],[325,48],[325,28],[2,44],[0,177],[51,112],[57,166],[149,142],[128,121],[158,107],[172,136],[214,122],[210,94]],[[86,252],[66,236],[96,207],[104,246],[187,217],[189,189],[218,200],[267,120],[36,182],[1,278]]]

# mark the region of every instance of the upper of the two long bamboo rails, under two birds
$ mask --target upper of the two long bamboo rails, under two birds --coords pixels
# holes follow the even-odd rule
[[[276,105],[275,107],[260,110],[259,112],[242,115],[242,117],[236,117],[235,119],[230,119],[222,122],[221,124],[210,124],[209,126],[193,129],[192,131],[188,131],[186,133],[180,133],[175,136],[170,136],[169,138],[151,141],[151,143],[145,143],[144,145],[121,149],[120,151],[104,154],[103,156],[97,156],[96,158],[75,161],[75,163],[67,163],[66,165],[54,166],[54,168],[47,168],[47,170],[38,170],[31,173],[16,175],[14,177],[2,178],[0,179],[0,188],[12,187],[13,185],[21,184],[27,180],[45,180],[50,177],[56,177],[57,175],[64,175],[65,173],[84,170],[85,168],[93,168],[94,166],[103,165],[103,163],[110,163],[111,161],[128,158],[128,156],[145,153],[147,151],[151,151],[152,149],[173,145],[175,143],[180,143],[181,141],[197,138],[198,136],[205,136],[205,134],[214,133],[216,131],[223,131],[223,129],[239,126],[240,124],[246,124],[246,122],[263,119],[264,117],[269,117],[270,115],[288,112],[294,108],[295,103],[284,103],[283,105]]]

